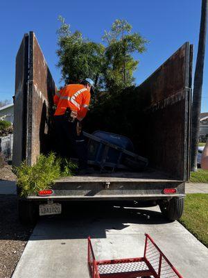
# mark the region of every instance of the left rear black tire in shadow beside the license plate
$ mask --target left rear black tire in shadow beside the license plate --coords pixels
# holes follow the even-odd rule
[[[21,224],[35,224],[38,218],[38,206],[33,202],[18,200],[18,215]]]

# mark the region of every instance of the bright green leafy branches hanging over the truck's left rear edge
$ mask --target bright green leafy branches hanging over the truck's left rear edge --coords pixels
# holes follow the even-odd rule
[[[76,167],[75,163],[67,159],[56,158],[53,152],[48,156],[40,154],[37,163],[33,166],[26,165],[24,161],[20,167],[15,168],[21,197],[51,188],[55,179],[71,176]]]

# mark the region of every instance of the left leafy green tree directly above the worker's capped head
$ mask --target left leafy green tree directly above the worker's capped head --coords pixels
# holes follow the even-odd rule
[[[62,25],[58,28],[58,67],[65,83],[78,83],[87,77],[100,82],[103,66],[103,44],[83,38],[80,31],[71,32],[69,24],[59,17]]]

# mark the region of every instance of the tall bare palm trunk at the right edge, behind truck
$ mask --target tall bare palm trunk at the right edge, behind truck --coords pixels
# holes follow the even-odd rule
[[[191,134],[191,171],[197,170],[200,109],[202,99],[203,71],[205,63],[205,44],[207,33],[207,0],[202,0],[198,54],[193,83],[192,134]]]

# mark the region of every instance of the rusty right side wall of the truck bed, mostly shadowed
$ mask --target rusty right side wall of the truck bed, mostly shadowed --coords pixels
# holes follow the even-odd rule
[[[187,42],[137,88],[146,155],[154,167],[181,180],[188,176],[191,60]]]

